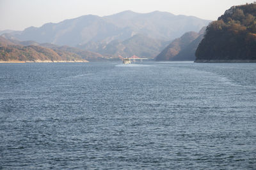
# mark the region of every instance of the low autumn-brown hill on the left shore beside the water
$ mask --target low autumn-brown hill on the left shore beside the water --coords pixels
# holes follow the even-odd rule
[[[108,60],[99,53],[71,46],[57,46],[35,41],[18,41],[0,36],[0,62],[88,62]]]

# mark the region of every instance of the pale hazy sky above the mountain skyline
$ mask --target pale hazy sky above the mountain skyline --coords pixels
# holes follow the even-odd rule
[[[168,11],[175,15],[217,20],[231,6],[255,0],[0,0],[0,31],[40,27],[81,15],[111,15],[124,10],[139,13]]]

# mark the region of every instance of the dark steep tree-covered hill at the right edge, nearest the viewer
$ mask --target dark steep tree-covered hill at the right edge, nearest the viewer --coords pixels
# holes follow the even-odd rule
[[[232,6],[209,24],[195,62],[256,62],[256,3]]]

